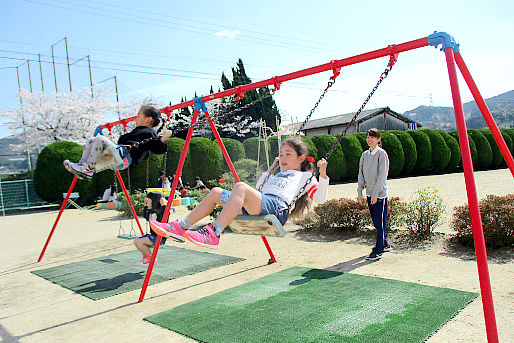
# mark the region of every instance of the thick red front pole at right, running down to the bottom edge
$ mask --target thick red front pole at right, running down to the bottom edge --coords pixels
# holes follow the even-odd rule
[[[462,166],[464,169],[464,180],[466,182],[466,192],[468,195],[469,212],[471,214],[471,226],[473,229],[473,240],[475,242],[475,253],[477,256],[478,278],[480,281],[480,292],[482,295],[482,307],[484,309],[487,341],[493,343],[498,342],[498,331],[496,328],[493,295],[491,291],[491,281],[489,280],[487,253],[485,250],[484,232],[482,229],[482,218],[480,217],[480,208],[478,206],[478,196],[473,175],[473,163],[471,161],[471,151],[469,149],[466,121],[464,119],[464,109],[460,98],[453,48],[446,48],[444,53],[446,55],[446,64],[448,66],[448,75],[450,77],[450,87],[452,90],[457,131],[459,133]]]

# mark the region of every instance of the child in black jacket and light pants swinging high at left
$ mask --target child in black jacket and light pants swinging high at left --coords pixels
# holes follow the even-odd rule
[[[119,154],[119,158],[114,156],[114,159],[119,162],[118,165],[111,166],[114,170],[135,167],[148,158],[149,151],[154,154],[164,154],[168,149],[167,142],[172,132],[165,130],[161,137],[157,136],[163,123],[160,111],[153,106],[141,106],[135,122],[136,128],[120,136],[118,145],[102,135],[88,139],[80,161],[74,163],[64,160],[64,167],[79,179],[91,179],[95,171],[105,169],[97,168],[96,164],[106,149]]]

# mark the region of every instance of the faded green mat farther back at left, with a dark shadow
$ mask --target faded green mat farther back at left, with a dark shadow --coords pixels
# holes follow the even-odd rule
[[[32,273],[88,298],[99,300],[140,289],[147,270],[146,267],[136,265],[140,259],[141,253],[134,250],[35,270]],[[244,259],[167,246],[159,249],[149,285],[242,260]]]

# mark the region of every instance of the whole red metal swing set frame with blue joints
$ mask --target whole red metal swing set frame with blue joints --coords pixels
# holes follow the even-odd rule
[[[489,269],[487,265],[487,253],[485,248],[485,241],[484,241],[484,234],[483,234],[483,228],[482,228],[482,219],[480,216],[480,209],[478,206],[478,197],[477,197],[477,191],[475,186],[475,179],[473,175],[473,164],[471,160],[471,152],[469,147],[469,141],[468,141],[468,134],[466,129],[466,122],[464,118],[464,110],[462,107],[462,101],[460,96],[460,90],[459,90],[459,84],[457,79],[457,73],[455,65],[459,68],[462,76],[464,77],[464,80],[466,81],[466,84],[468,88],[470,89],[473,98],[475,99],[489,129],[491,130],[491,133],[493,134],[493,137],[495,139],[496,144],[498,145],[503,158],[505,159],[507,166],[509,167],[513,177],[514,177],[514,160],[512,158],[512,154],[510,153],[507,144],[505,143],[505,140],[503,139],[503,136],[501,135],[492,115],[489,111],[489,108],[485,104],[484,99],[482,98],[482,95],[480,94],[478,87],[476,86],[473,78],[471,77],[471,74],[469,70],[467,69],[466,64],[464,63],[464,60],[462,59],[462,56],[459,51],[459,44],[455,42],[452,36],[448,35],[445,32],[435,32],[427,37],[412,40],[409,42],[405,42],[402,44],[397,45],[389,45],[386,48],[374,50],[371,52],[363,53],[360,55],[356,55],[349,58],[344,58],[340,60],[332,60],[328,63],[318,65],[312,68],[303,69],[300,71],[292,72],[289,74],[281,75],[281,76],[275,76],[263,81],[254,82],[251,84],[241,85],[237,86],[235,88],[227,89],[223,92],[211,94],[204,97],[198,97],[194,100],[182,102],[180,104],[176,104],[173,106],[167,106],[161,109],[162,113],[165,113],[169,117],[171,116],[172,111],[184,108],[187,106],[194,106],[194,112],[191,119],[191,123],[187,132],[186,141],[184,144],[184,149],[182,150],[182,153],[180,155],[179,164],[177,167],[177,170],[175,172],[176,175],[181,175],[182,173],[182,167],[184,166],[184,161],[186,159],[187,150],[189,147],[189,143],[191,141],[191,137],[193,135],[194,131],[194,125],[197,122],[198,115],[200,111],[202,111],[207,118],[209,122],[209,126],[212,129],[212,132],[214,133],[214,136],[216,137],[216,141],[218,142],[221,151],[223,153],[223,156],[225,160],[227,161],[227,164],[230,168],[230,171],[234,175],[234,178],[236,182],[239,182],[239,177],[237,175],[237,172],[234,168],[234,165],[232,164],[232,161],[227,153],[227,150],[225,149],[225,146],[221,140],[221,137],[216,129],[216,126],[214,125],[214,122],[212,121],[212,118],[209,115],[209,112],[207,111],[207,107],[205,106],[205,102],[211,101],[214,99],[219,99],[227,96],[237,95],[238,99],[242,99],[244,97],[244,94],[250,90],[255,90],[258,88],[263,88],[267,86],[273,86],[273,92],[280,89],[280,85],[283,82],[298,79],[301,77],[313,75],[322,73],[325,71],[332,71],[334,74],[334,78],[337,77],[340,73],[340,70],[342,67],[346,67],[349,65],[381,58],[381,57],[387,57],[389,56],[391,60],[396,60],[396,57],[399,53],[414,50],[426,46],[434,46],[438,47],[439,45],[442,45],[441,51],[444,51],[445,57],[446,57],[446,64],[448,68],[448,76],[450,81],[450,87],[452,92],[452,98],[453,98],[453,107],[455,109],[455,119],[457,124],[457,131],[459,135],[459,144],[462,154],[462,165],[464,169],[464,179],[466,184],[466,192],[467,192],[467,198],[468,198],[468,204],[469,209],[471,213],[471,223],[472,223],[472,229],[473,229],[473,239],[475,244],[475,253],[477,256],[477,267],[478,267],[478,276],[479,276],[479,283],[480,283],[480,291],[482,295],[482,305],[484,310],[484,318],[485,318],[485,325],[486,325],[486,333],[487,333],[487,340],[488,342],[498,342],[498,332],[496,327],[496,319],[495,319],[495,313],[494,313],[494,304],[493,304],[493,297],[492,297],[492,291],[491,291],[491,282],[489,278]],[[101,125],[98,130],[95,131],[95,134],[101,133],[102,129],[107,129],[109,132],[111,132],[111,129],[113,126],[116,125],[123,125],[123,127],[126,129],[127,123],[135,120],[136,117],[131,117],[127,119],[122,119],[116,122],[107,123],[104,125]],[[123,188],[123,192],[127,196],[127,199],[129,201],[129,206],[131,207],[132,215],[136,219],[136,222],[139,226],[139,230],[141,231],[141,234],[143,234],[143,230],[141,228],[141,224],[139,223],[137,214],[134,210],[134,207],[132,206],[132,203],[130,202],[130,197],[128,195],[127,189],[125,187],[125,184],[123,183],[123,180],[121,178],[121,175],[119,171],[116,171],[116,176],[118,177],[118,180],[121,184],[121,187]],[[68,202],[69,196],[71,192],[73,191],[73,188],[75,187],[75,184],[77,182],[77,177],[75,177],[68,189],[68,194],[66,198],[63,200],[63,203],[61,205],[61,208],[59,210],[59,214],[57,215],[57,218],[55,220],[55,223],[52,227],[52,230],[50,231],[50,234],[47,238],[47,241],[45,243],[45,246],[43,250],[41,251],[41,254],[39,256],[38,262],[41,261],[43,258],[43,255],[45,253],[45,250],[48,246],[48,243],[50,242],[50,239],[55,231],[55,228],[57,226],[57,223],[59,222],[59,218],[61,217],[61,214]],[[171,193],[174,194],[175,189],[177,188],[178,184],[178,178],[173,179],[173,184],[171,186]],[[170,208],[171,208],[171,201],[168,202],[168,205],[166,206],[166,210],[164,212],[163,216],[163,222],[166,222],[168,220]],[[275,256],[273,255],[273,252],[271,251],[271,248],[268,244],[268,241],[266,237],[262,236],[262,240],[264,242],[264,245],[266,246],[266,249],[268,250],[268,253],[270,255],[271,261],[276,262]],[[142,302],[146,293],[146,289],[148,287],[148,283],[150,281],[150,277],[152,274],[153,266],[155,264],[155,259],[157,257],[158,251],[159,251],[159,245],[161,242],[161,237],[159,236],[155,242],[153,253],[152,253],[152,259],[150,261],[150,264],[148,266],[148,270],[145,276],[145,280],[143,282],[143,286],[141,289],[141,294],[139,297],[138,302]]]

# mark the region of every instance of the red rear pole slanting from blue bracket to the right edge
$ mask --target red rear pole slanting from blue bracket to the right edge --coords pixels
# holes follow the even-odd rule
[[[455,54],[455,63],[457,63],[457,66],[459,67],[459,70],[462,76],[464,77],[464,80],[468,84],[469,90],[471,91],[471,94],[473,94],[473,98],[475,98],[475,102],[477,103],[480,112],[482,112],[482,116],[484,117],[487,126],[489,126],[489,130],[491,130],[494,140],[496,141],[496,144],[498,144],[498,147],[502,152],[503,158],[505,159],[505,162],[507,163],[507,166],[510,169],[510,173],[514,177],[514,159],[512,159],[512,154],[510,153],[510,150],[507,147],[507,144],[505,143],[505,140],[503,139],[503,136],[500,130],[498,129],[498,126],[496,125],[496,122],[494,121],[494,118],[491,115],[489,108],[487,107],[484,99],[482,98],[482,95],[480,94],[478,87],[475,84],[475,81],[471,77],[471,73],[469,72],[466,63],[464,63],[464,60],[462,59],[460,52],[457,52]]]

